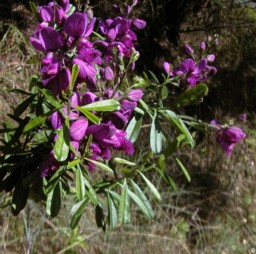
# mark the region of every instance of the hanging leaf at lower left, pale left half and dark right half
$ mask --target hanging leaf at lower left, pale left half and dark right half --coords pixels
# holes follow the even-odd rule
[[[61,207],[62,184],[58,182],[55,188],[48,194],[46,200],[46,212],[48,215],[55,217],[58,215]]]

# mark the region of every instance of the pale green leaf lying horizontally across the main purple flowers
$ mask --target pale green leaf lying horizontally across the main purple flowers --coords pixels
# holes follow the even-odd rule
[[[120,103],[117,100],[110,99],[110,100],[103,100],[103,101],[96,101],[81,107],[77,107],[78,110],[86,109],[89,111],[114,111],[120,109]]]

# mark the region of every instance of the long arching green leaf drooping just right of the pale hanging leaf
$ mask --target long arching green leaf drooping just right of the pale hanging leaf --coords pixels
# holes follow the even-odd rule
[[[171,110],[159,110],[158,112],[161,113],[166,120],[172,122],[176,126],[176,128],[185,135],[191,147],[195,146],[195,141],[190,134],[187,126],[177,114],[175,114]]]

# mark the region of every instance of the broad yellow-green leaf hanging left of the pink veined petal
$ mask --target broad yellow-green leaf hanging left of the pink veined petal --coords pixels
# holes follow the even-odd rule
[[[68,158],[69,144],[69,130],[66,123],[64,123],[54,145],[54,157],[57,161],[65,161]]]

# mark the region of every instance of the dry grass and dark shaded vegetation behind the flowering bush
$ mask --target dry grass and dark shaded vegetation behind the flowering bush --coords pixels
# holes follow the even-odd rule
[[[95,15],[109,16],[113,2],[91,1]],[[118,2],[124,4],[115,1]],[[216,118],[220,122],[238,123],[248,134],[246,141],[227,159],[213,137],[199,137],[192,152],[184,149],[180,154],[186,161],[191,183],[187,183],[172,162],[166,165],[178,187],[175,190],[152,174],[150,177],[163,199],[161,203],[152,201],[156,211],[153,221],[138,213],[132,225],[103,233],[97,229],[89,207],[80,226],[71,231],[68,218],[72,200],[65,201],[55,219],[45,215],[42,204],[32,201],[18,217],[13,217],[8,209],[1,209],[0,252],[253,253],[256,250],[253,1],[141,0],[134,15],[148,23],[147,29],[139,34],[139,72],[149,68],[160,73],[164,59],[178,60],[184,42],[196,48],[201,40],[208,40],[211,51],[216,53],[218,74],[210,83],[208,98],[187,110],[205,121]],[[1,121],[11,106],[19,103],[19,98],[10,95],[7,89],[26,88],[30,75],[39,69],[36,53],[28,43],[35,25],[27,1],[0,3]],[[243,112],[248,113],[248,120],[239,122],[238,116]],[[138,148],[142,146],[139,144]],[[2,208],[8,199],[8,195],[1,193]]]

